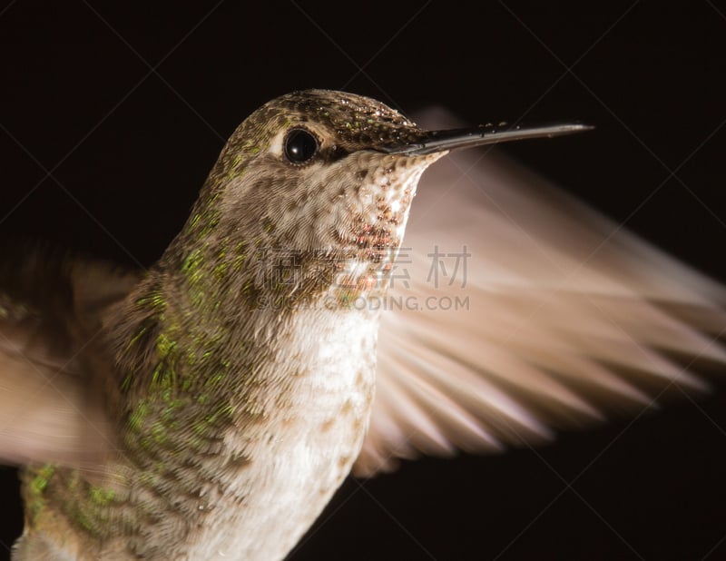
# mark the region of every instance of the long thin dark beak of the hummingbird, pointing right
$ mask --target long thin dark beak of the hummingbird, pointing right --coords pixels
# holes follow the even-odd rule
[[[594,127],[587,124],[554,124],[552,126],[496,130],[490,127],[424,131],[412,143],[392,143],[378,148],[385,153],[423,156],[445,150],[459,150],[486,144],[508,143],[528,138],[552,138],[564,134],[582,133]]]

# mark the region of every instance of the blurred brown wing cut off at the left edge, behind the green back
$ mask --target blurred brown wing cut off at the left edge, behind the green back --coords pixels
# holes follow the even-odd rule
[[[84,353],[136,279],[43,251],[19,263],[0,272],[0,463],[93,467],[112,447]]]

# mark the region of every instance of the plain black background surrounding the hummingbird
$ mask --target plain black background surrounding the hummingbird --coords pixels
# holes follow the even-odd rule
[[[470,123],[593,123],[502,150],[723,281],[725,15],[701,0],[18,0],[0,12],[0,233],[148,265],[234,127],[272,97],[325,87],[408,113],[440,103]],[[722,558],[714,385],[537,452],[348,481],[292,558]],[[15,471],[0,477],[8,546],[22,514]]]

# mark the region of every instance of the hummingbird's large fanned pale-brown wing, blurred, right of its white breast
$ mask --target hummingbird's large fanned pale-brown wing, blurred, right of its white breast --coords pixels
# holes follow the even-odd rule
[[[726,362],[724,287],[480,153],[424,173],[403,246],[358,476],[546,440],[671,382],[704,389],[676,356]]]

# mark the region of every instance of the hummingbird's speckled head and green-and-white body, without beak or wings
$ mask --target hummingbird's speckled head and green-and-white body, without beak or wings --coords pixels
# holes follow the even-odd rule
[[[182,233],[97,319],[114,446],[93,482],[29,469],[18,559],[281,558],[312,524],[368,427],[380,311],[366,302],[440,156],[361,150],[374,113],[391,142],[417,132],[372,100],[311,92],[232,135]],[[283,146],[290,130],[299,146]],[[295,162],[305,142],[347,157]]]

